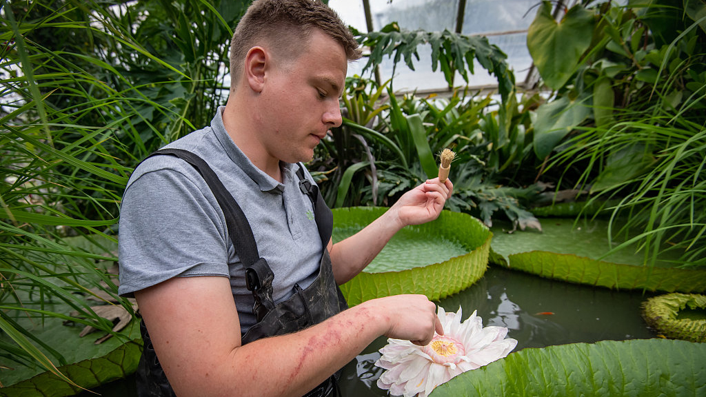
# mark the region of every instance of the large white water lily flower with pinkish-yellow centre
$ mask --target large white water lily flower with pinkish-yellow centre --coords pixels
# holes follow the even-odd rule
[[[456,313],[439,307],[437,314],[444,334],[435,333],[429,345],[388,338],[388,345],[380,349],[382,357],[375,362],[386,369],[378,379],[379,388],[393,396],[426,397],[436,386],[505,357],[517,345],[517,340],[505,338],[508,328],[484,328],[476,312],[463,323],[460,307]]]

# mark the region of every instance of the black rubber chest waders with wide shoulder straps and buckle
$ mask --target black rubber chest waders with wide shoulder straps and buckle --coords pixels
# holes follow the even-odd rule
[[[251,326],[242,336],[242,343],[268,336],[282,335],[301,331],[302,329],[318,324],[325,319],[347,309],[347,304],[340,289],[333,278],[331,260],[328,255],[328,241],[333,230],[333,215],[331,210],[318,191],[318,186],[311,184],[304,177],[304,170],[299,165],[297,177],[302,193],[309,196],[314,206],[314,218],[321,235],[323,244],[323,257],[319,266],[316,280],[308,288],[302,289],[294,285],[294,295],[288,300],[275,304],[272,293],[272,282],[275,274],[265,259],[258,254],[255,237],[250,225],[233,196],[225,189],[215,172],[208,164],[197,155],[182,149],[157,150],[152,155],[175,155],[189,162],[198,170],[215,195],[226,219],[228,235],[230,236],[235,251],[245,268],[246,285],[253,294],[255,304],[253,314],[257,323]],[[150,155],[150,157],[152,156]],[[144,348],[136,374],[137,391],[140,397],[167,397],[175,396],[172,386],[162,371],[160,362],[152,347],[150,336],[145,321],[140,321]],[[337,374],[331,376],[321,385],[317,386],[306,397],[323,397],[340,395],[337,385]]]

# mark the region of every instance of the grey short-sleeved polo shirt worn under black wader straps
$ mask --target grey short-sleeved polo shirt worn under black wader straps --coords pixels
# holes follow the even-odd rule
[[[306,288],[318,275],[323,247],[313,205],[299,190],[296,164],[282,162],[284,181],[277,182],[234,144],[221,114],[222,107],[210,126],[166,147],[199,155],[234,196],[260,256],[275,273],[275,303],[282,302],[292,295],[295,283]],[[313,183],[308,172],[306,177]],[[119,294],[124,297],[172,277],[227,277],[241,331],[255,324],[253,297],[245,287],[245,271],[223,212],[201,175],[184,160],[155,156],[133,172],[121,204],[119,263]]]

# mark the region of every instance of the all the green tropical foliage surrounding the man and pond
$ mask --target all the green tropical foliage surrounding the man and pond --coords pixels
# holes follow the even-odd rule
[[[70,357],[35,332],[49,319],[132,339],[93,308],[133,313],[111,271],[124,184],[148,153],[208,124],[225,101],[227,42],[248,3],[0,1],[4,366],[64,376],[56,367]],[[644,230],[628,242],[648,263],[665,242],[685,253],[679,263],[704,263],[706,6],[643,3],[579,5],[560,23],[539,7],[528,46],[548,98],[516,93],[505,54],[483,37],[395,23],[360,34],[370,76],[349,78],[344,124],[310,164],[326,201],[390,205],[433,177],[436,153],[452,147],[454,211],[539,228],[530,208],[549,186],[537,182],[549,181],[617,203],[609,210],[628,222],[616,220],[613,235]],[[413,68],[419,45],[431,45],[449,84],[479,62],[499,96],[399,95],[393,81],[373,81],[383,57]],[[564,49],[568,61],[556,62]]]

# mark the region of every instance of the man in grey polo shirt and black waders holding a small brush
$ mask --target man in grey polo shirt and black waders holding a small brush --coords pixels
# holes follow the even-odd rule
[[[339,312],[335,284],[365,268],[397,230],[436,219],[450,182],[426,181],[337,244],[325,237],[315,195],[299,189],[313,180],[297,176],[297,163],[311,160],[342,122],[339,97],[357,47],[318,1],[254,2],[234,34],[227,105],[209,127],[167,146],[203,158],[251,230],[229,232],[203,172],[174,155],[148,158],[133,173],[121,208],[119,292],[136,297],[149,331],[138,374],[140,387],[153,389],[145,394],[171,393],[155,386],[163,369],[177,396],[302,396],[378,336],[426,345],[443,332],[423,295]],[[258,284],[261,273],[246,280],[251,268],[240,256],[247,250],[235,244],[249,235],[274,274],[264,277],[267,288]],[[307,298],[312,290],[316,299]],[[292,314],[302,302],[306,315]],[[330,389],[322,387],[313,393]]]

